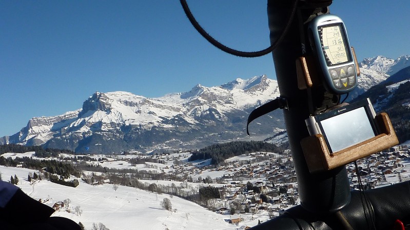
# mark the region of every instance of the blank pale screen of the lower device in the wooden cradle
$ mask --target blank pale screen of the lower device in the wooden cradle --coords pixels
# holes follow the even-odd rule
[[[332,153],[375,137],[364,107],[322,120],[321,125]]]

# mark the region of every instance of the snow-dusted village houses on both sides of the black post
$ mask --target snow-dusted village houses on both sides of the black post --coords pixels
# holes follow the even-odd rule
[[[257,161],[256,159],[262,159]],[[346,165],[352,189],[357,189],[358,177],[366,189],[386,186],[410,180],[410,151],[407,147],[393,147],[378,154],[357,160]],[[409,166],[410,167],[410,166]],[[177,171],[185,178],[190,175],[216,175],[211,182],[220,184],[221,199],[213,206],[216,212],[229,212],[229,207],[240,202],[238,213],[267,212],[269,217],[280,215],[286,208],[299,204],[296,173],[290,154],[269,155],[268,153],[252,153],[247,161],[226,161],[218,168],[192,167],[187,162],[177,166]],[[249,190],[251,182],[256,189]],[[267,199],[262,199],[265,196]],[[267,202],[266,202],[267,201]],[[239,206],[237,204],[237,206]]]

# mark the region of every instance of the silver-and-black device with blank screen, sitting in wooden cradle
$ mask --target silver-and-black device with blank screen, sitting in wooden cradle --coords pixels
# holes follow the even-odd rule
[[[305,120],[311,136],[322,134],[330,153],[378,135],[376,112],[367,98]]]

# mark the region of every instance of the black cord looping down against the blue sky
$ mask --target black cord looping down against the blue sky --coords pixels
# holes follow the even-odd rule
[[[219,41],[217,41],[216,39],[214,39],[211,35],[209,35],[197,22],[197,20],[195,19],[195,17],[192,15],[191,11],[189,10],[188,4],[186,3],[186,0],[180,0],[182,8],[185,11],[186,16],[189,19],[189,22],[191,22],[192,26],[206,39],[209,41],[209,43],[211,43],[213,46],[216,46],[218,49],[232,54],[232,55],[236,55],[236,56],[240,56],[240,57],[260,57],[263,56],[265,54],[268,54],[270,52],[272,52],[273,50],[276,49],[276,47],[278,46],[278,44],[283,40],[283,38],[285,37],[285,34],[287,33],[290,24],[295,16],[295,12],[297,9],[297,4],[298,4],[298,0],[294,0],[294,4],[292,6],[292,11],[289,15],[288,18],[288,22],[285,26],[285,28],[282,31],[281,36],[274,42],[274,44],[272,44],[270,47],[261,50],[261,51],[256,51],[256,52],[244,52],[244,51],[239,51],[239,50],[234,50],[231,49],[223,44],[221,44]]]

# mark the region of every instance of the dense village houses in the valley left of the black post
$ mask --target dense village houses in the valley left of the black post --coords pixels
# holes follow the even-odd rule
[[[184,162],[176,165],[176,169],[175,173],[185,178],[196,175],[205,181],[212,175],[212,180],[207,182],[219,187],[221,199],[212,201],[208,208],[218,213],[233,214],[231,208],[235,207],[234,215],[264,212],[275,217],[298,204],[296,172],[289,154],[256,152],[249,154],[246,160],[226,161],[217,168],[192,167]]]

